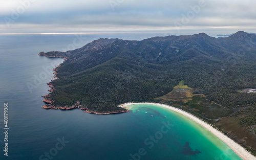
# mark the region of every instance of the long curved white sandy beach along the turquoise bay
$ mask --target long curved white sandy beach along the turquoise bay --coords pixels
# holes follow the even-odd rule
[[[206,128],[207,130],[209,130],[211,133],[213,133],[214,135],[216,135],[221,141],[223,141],[225,144],[227,144],[234,152],[236,152],[242,159],[244,160],[256,160],[256,157],[253,156],[252,154],[250,154],[247,150],[245,150],[242,146],[240,146],[239,144],[237,144],[236,142],[234,142],[233,140],[229,139],[226,135],[224,135],[222,132],[220,132],[219,130],[215,129],[214,127],[212,127],[211,125],[207,124],[206,122],[200,120],[199,118],[191,115],[188,112],[185,112],[181,109],[172,107],[172,106],[168,106],[165,104],[160,104],[160,103],[125,103],[120,105],[121,107],[126,107],[132,104],[154,104],[154,105],[158,105],[161,107],[165,107],[168,108],[170,110],[176,111],[178,113],[181,113],[182,115],[190,118],[191,120],[197,122],[198,124],[200,124],[201,126],[203,126],[204,128]]]

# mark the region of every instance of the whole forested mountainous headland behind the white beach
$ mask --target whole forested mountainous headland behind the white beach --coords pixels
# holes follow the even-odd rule
[[[44,55],[68,58],[56,68],[59,79],[52,82],[56,90],[49,96],[55,105],[79,101],[92,111],[113,112],[126,102],[162,101],[207,119],[235,112],[237,130],[248,135],[246,128],[256,124],[256,93],[238,92],[256,88],[253,34],[99,39],[74,51]],[[250,141],[256,144],[256,139]]]

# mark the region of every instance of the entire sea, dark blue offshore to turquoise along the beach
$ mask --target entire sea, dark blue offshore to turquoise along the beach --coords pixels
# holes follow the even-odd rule
[[[154,105],[135,105],[116,115],[41,109],[41,96],[50,89],[46,83],[54,79],[52,68],[63,60],[38,56],[39,52],[73,50],[99,38],[153,36],[157,35],[1,35],[0,159],[240,159],[204,128]]]

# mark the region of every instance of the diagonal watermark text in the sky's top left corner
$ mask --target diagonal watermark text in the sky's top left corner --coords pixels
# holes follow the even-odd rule
[[[4,20],[7,27],[10,27],[11,23],[14,23],[15,20],[19,18],[20,15],[24,14],[27,9],[31,6],[31,3],[35,2],[36,0],[20,0],[20,5],[16,9],[11,9],[11,15],[5,16]]]

